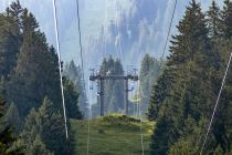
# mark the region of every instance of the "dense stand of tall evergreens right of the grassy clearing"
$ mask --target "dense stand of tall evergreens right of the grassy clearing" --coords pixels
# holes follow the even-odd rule
[[[200,154],[232,50],[232,2],[220,9],[213,1],[202,12],[192,0],[177,29],[167,66],[151,90],[152,155]],[[231,71],[203,154],[232,154]]]

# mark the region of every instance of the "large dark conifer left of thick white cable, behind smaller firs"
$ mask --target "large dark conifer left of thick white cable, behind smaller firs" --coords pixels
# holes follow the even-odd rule
[[[54,48],[48,45],[35,18],[27,9],[21,20],[23,42],[8,86],[8,99],[17,105],[22,116],[31,107],[38,108],[45,95],[61,110],[57,55]]]

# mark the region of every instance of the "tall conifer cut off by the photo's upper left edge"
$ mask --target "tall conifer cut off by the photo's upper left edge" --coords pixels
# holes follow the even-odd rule
[[[23,12],[19,0],[0,14],[0,74],[9,79],[17,64],[17,54],[21,45],[21,20]]]

